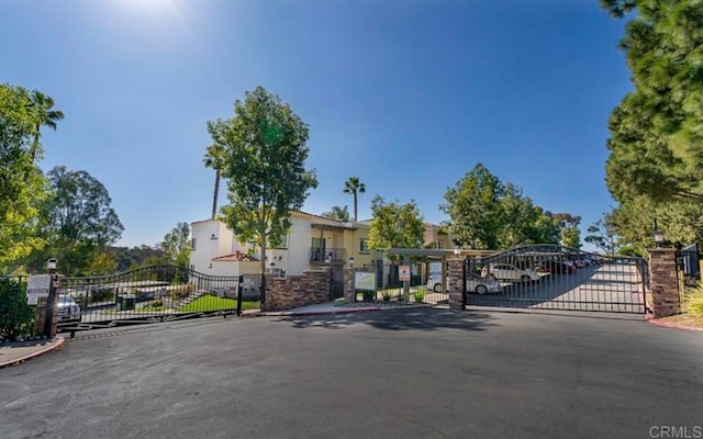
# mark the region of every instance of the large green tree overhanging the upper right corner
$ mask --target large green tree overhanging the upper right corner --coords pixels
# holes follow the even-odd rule
[[[699,0],[601,0],[634,12],[621,42],[634,91],[613,111],[606,181],[615,200],[703,202],[703,13]]]

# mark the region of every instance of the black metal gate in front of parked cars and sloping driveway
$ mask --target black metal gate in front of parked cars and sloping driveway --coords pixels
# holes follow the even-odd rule
[[[641,258],[561,246],[524,246],[467,258],[466,304],[607,313],[646,313]]]

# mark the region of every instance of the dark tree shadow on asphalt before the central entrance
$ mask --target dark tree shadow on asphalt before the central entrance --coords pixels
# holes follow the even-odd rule
[[[343,329],[352,325],[368,325],[384,330],[486,330],[496,325],[492,322],[494,319],[490,314],[482,312],[422,306],[366,313],[289,316],[275,322],[290,324],[297,329]]]

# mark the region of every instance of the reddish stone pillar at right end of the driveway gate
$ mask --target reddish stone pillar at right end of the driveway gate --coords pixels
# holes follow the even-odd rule
[[[674,248],[649,250],[649,288],[655,318],[681,312],[676,255]]]

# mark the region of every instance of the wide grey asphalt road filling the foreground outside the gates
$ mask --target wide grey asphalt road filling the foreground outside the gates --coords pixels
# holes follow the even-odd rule
[[[703,334],[641,320],[410,308],[89,337],[0,370],[0,437],[663,438],[662,426],[703,426]]]

